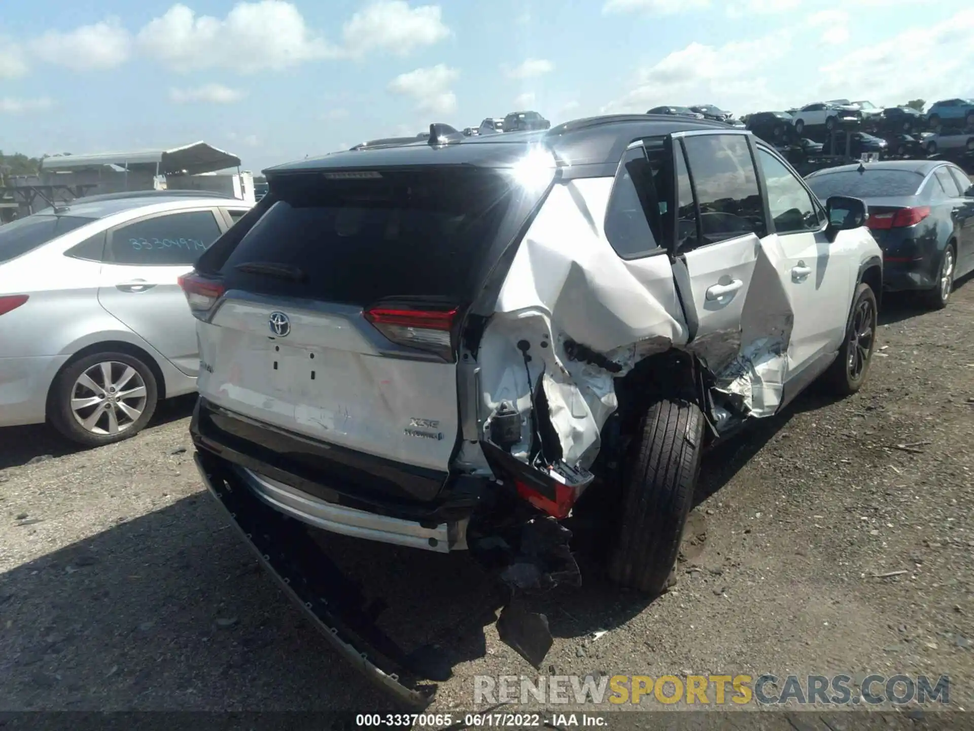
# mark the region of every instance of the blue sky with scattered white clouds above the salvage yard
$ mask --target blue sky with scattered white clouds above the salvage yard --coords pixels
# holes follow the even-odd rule
[[[962,0],[8,0],[0,149],[204,139],[259,171],[531,108],[974,96]]]

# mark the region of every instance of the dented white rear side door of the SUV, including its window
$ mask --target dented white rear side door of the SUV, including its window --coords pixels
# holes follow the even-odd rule
[[[750,137],[730,131],[672,135],[677,179],[673,271],[690,349],[756,415],[780,403],[793,319],[768,236]]]

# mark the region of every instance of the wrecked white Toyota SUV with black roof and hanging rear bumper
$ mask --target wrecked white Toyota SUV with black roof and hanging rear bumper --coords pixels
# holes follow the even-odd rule
[[[198,465],[335,646],[408,700],[431,673],[363,629],[295,525],[468,549],[520,591],[578,581],[565,526],[588,513],[609,575],[656,594],[704,447],[819,376],[844,395],[868,373],[865,206],[821,204],[747,131],[432,125],[267,177],[182,281]]]

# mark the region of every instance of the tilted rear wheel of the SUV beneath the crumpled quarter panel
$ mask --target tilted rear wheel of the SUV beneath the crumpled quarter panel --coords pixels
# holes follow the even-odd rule
[[[693,506],[703,414],[696,404],[659,401],[647,410],[622,478],[621,519],[609,577],[651,596],[666,589]]]

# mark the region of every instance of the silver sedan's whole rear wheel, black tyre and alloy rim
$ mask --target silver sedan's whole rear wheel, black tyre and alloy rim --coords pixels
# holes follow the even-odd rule
[[[156,410],[152,369],[127,353],[93,353],[57,374],[48,401],[52,425],[72,442],[100,446],[140,432]]]

